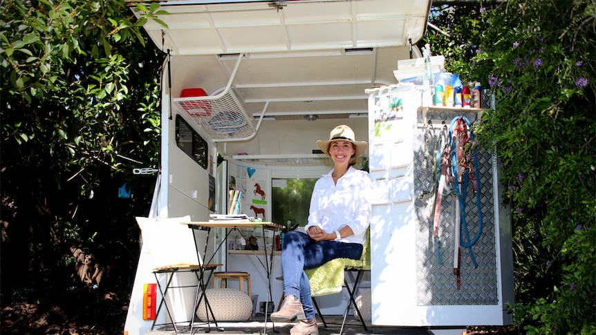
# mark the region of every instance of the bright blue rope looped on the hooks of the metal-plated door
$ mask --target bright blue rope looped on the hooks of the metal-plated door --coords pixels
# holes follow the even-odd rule
[[[454,119],[451,120],[451,127],[449,128],[449,139],[452,138],[453,136],[453,126],[454,123],[458,120],[458,119],[464,119],[468,128],[469,128],[469,140],[470,141],[474,141],[474,131],[472,130],[472,127],[470,126],[470,123],[468,121],[468,119],[464,116],[460,116],[460,117],[454,117]],[[476,170],[476,173],[478,173],[478,159],[476,158],[476,147],[473,147],[472,150],[472,157],[474,157],[474,169]],[[478,262],[476,262],[476,257],[474,256],[474,251],[472,250],[472,246],[474,246],[476,244],[476,242],[478,242],[478,240],[480,240],[480,236],[482,234],[482,228],[483,228],[483,216],[482,216],[482,208],[481,208],[481,202],[480,202],[480,178],[476,178],[476,182],[477,182],[477,191],[476,191],[476,207],[478,208],[478,231],[476,232],[476,236],[474,237],[473,240],[470,240],[469,238],[469,230],[467,229],[467,222],[465,220],[465,198],[467,195],[467,181],[468,181],[468,176],[469,176],[469,171],[464,171],[464,175],[463,175],[463,182],[462,182],[462,191],[460,192],[458,181],[457,181],[457,158],[455,155],[455,151],[454,151],[454,143],[453,141],[451,141],[451,169],[453,170],[453,175],[454,175],[454,179],[455,179],[455,184],[456,184],[456,193],[457,193],[457,197],[459,200],[459,204],[460,204],[460,246],[465,247],[469,250],[469,256],[470,258],[472,258],[472,262],[474,263],[474,267],[478,267]],[[464,240],[464,234],[462,233],[462,229],[465,233],[465,238],[466,240]]]

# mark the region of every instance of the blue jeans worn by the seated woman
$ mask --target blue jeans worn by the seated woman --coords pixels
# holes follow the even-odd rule
[[[310,283],[304,270],[315,269],[335,258],[359,260],[363,247],[359,243],[317,242],[301,231],[288,231],[281,249],[284,294],[299,298],[306,318],[315,318]]]

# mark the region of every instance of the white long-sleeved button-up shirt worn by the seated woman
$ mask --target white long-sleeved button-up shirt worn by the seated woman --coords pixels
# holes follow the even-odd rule
[[[333,182],[331,170],[315,183],[313,196],[310,198],[309,227],[321,227],[327,233],[349,226],[353,236],[346,236],[340,241],[364,245],[366,229],[372,216],[373,183],[368,172],[349,167],[348,171]]]

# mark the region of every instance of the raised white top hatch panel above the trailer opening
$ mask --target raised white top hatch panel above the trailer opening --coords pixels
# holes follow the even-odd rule
[[[190,3],[195,4],[190,4]],[[429,0],[165,1],[145,29],[172,55],[404,46],[425,31]],[[165,32],[165,35],[162,34]],[[193,43],[194,42],[194,43]]]

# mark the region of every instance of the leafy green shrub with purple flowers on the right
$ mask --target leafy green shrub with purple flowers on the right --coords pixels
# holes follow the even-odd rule
[[[595,334],[596,3],[528,0],[436,8],[434,54],[496,109],[478,126],[496,148],[512,209],[516,324]]]

